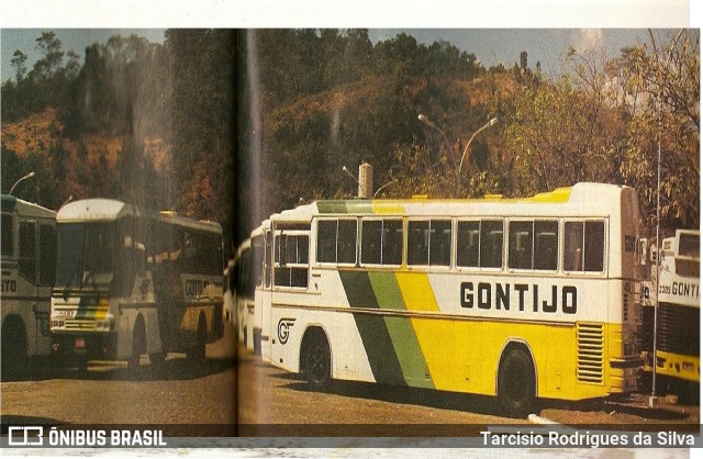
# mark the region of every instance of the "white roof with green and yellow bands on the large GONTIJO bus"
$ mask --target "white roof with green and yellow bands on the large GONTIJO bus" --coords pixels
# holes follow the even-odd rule
[[[628,192],[631,193],[635,192],[629,187],[581,182],[573,187],[557,188],[554,191],[537,193],[529,198],[504,199],[500,195],[491,194],[479,199],[428,199],[426,197],[415,197],[399,200],[325,200],[274,214],[271,220],[301,221],[324,214],[603,216],[613,211],[614,202],[620,203],[623,190],[629,190]],[[554,205],[540,209],[537,208],[539,204],[570,205],[569,210],[565,211],[563,208]]]

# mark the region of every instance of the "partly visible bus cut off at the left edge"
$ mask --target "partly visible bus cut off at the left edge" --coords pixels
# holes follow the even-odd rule
[[[29,356],[48,356],[48,314],[56,268],[56,212],[2,194],[2,374]],[[3,378],[4,379],[4,378]]]

